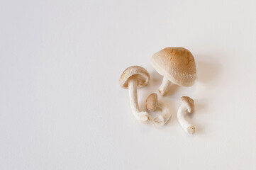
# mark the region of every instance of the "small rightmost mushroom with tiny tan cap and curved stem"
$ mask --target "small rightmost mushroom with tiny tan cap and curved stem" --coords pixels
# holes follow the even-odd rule
[[[185,120],[184,113],[192,113],[194,111],[194,100],[188,96],[182,96],[180,100],[182,101],[182,105],[179,106],[177,113],[179,124],[185,132],[193,134],[195,132],[194,125],[191,125],[187,120]]]

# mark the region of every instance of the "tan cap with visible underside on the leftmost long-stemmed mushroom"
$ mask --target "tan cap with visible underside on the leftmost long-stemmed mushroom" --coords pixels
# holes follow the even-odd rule
[[[150,81],[150,74],[148,71],[140,66],[131,66],[128,67],[119,79],[119,85],[123,89],[128,89],[130,79],[137,80],[137,88],[142,88],[148,85]]]

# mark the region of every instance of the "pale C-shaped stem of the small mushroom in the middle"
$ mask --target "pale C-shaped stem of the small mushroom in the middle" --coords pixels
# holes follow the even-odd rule
[[[158,101],[157,107],[162,109],[162,113],[158,115],[157,118],[153,119],[153,123],[155,123],[155,125],[165,125],[169,118],[171,118],[170,108],[162,101]]]

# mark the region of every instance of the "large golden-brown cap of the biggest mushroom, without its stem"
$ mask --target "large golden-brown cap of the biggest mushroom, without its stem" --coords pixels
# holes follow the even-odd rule
[[[196,63],[184,47],[166,47],[152,55],[152,66],[163,77],[179,86],[192,86],[196,80]]]

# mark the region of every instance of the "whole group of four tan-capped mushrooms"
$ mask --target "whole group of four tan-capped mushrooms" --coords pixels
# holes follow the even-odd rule
[[[166,47],[152,55],[152,67],[162,75],[162,84],[158,91],[160,96],[165,96],[172,84],[179,86],[192,86],[196,80],[196,63],[193,55],[184,47]],[[150,81],[150,74],[146,69],[140,66],[128,67],[121,78],[119,84],[123,89],[129,90],[130,108],[133,115],[140,123],[154,123],[155,125],[165,125],[171,118],[171,110],[169,105],[158,100],[157,94],[150,94],[145,105],[148,111],[161,111],[156,118],[151,118],[147,111],[140,111],[138,106],[137,89],[147,86]],[[193,134],[195,128],[185,120],[184,113],[194,111],[194,100],[188,96],[182,96],[182,105],[177,112],[177,119],[185,132]]]

